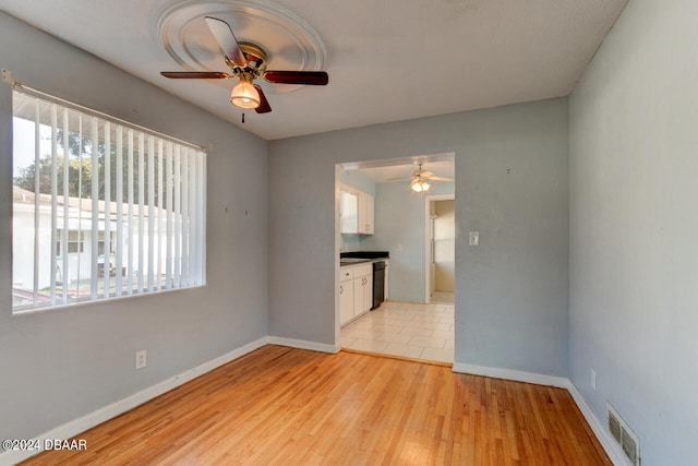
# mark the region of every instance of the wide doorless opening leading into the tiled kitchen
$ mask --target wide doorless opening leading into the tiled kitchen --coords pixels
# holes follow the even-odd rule
[[[395,159],[380,159],[338,164],[335,174],[335,229],[336,229],[336,304],[335,325],[336,342],[346,350],[369,351],[393,357],[404,357],[449,365],[454,360],[455,348],[455,306],[453,302],[453,274],[450,301],[433,301],[431,294],[424,292],[425,270],[432,255],[425,251],[425,242],[434,238],[435,253],[441,250],[441,231],[443,222],[450,215],[452,231],[455,229],[455,154],[433,154]],[[411,187],[417,170],[430,172],[440,179],[430,179],[429,192],[417,192]],[[452,181],[445,178],[450,178]],[[349,188],[346,188],[346,187]],[[374,229],[369,235],[342,232],[341,211],[342,187],[346,191],[356,189],[374,195]],[[429,236],[424,225],[431,217],[430,201],[449,201],[450,207],[434,204],[434,213],[441,219],[434,223],[437,237]],[[426,205],[426,210],[425,210]],[[444,204],[445,205],[445,204]],[[448,214],[447,212],[450,212]],[[351,213],[348,214],[351,216]],[[452,251],[453,251],[452,235]],[[339,278],[341,267],[340,253],[357,251],[388,251],[389,274],[386,273],[386,287],[389,283],[389,295],[378,308],[353,318],[342,316],[344,309],[349,309],[349,297],[357,302],[353,292],[346,292],[349,284],[342,286]],[[428,252],[425,254],[425,252]],[[453,253],[452,253],[453,255]],[[436,259],[436,256],[435,256]],[[453,259],[452,259],[452,262]],[[443,277],[437,278],[443,261],[435,263],[432,274],[438,280],[436,288],[447,289]],[[453,271],[452,264],[452,271]],[[386,271],[387,272],[387,271]],[[455,272],[455,271],[454,271]],[[442,274],[443,275],[443,274]],[[353,278],[356,286],[357,278]],[[349,282],[349,280],[345,280]],[[345,302],[342,303],[342,298]],[[443,302],[443,303],[442,303]],[[344,320],[342,320],[344,319]]]

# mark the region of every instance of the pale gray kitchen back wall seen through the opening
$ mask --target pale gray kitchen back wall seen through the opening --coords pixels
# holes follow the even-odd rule
[[[434,181],[429,193],[453,194],[454,183]],[[361,248],[390,252],[392,300],[424,302],[425,198],[407,181],[376,184],[375,200],[375,235],[365,237]]]

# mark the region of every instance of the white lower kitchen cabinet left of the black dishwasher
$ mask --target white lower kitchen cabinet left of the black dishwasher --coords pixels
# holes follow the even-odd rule
[[[368,312],[373,306],[373,265],[344,266],[339,282],[339,323]]]

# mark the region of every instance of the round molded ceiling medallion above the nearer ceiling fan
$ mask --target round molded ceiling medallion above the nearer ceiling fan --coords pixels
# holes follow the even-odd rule
[[[327,52],[317,33],[296,13],[278,4],[266,0],[170,1],[157,12],[152,33],[185,70],[227,71],[204,16],[230,24],[238,41],[262,47],[269,69],[320,71],[326,68]],[[272,94],[302,87],[266,82],[261,85]]]

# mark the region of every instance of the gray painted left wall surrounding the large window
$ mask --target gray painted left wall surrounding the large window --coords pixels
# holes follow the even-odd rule
[[[267,335],[267,143],[3,13],[0,44],[16,80],[213,147],[206,287],[12,316],[11,86],[0,83],[0,438],[27,439]],[[140,349],[148,366],[136,372]]]

